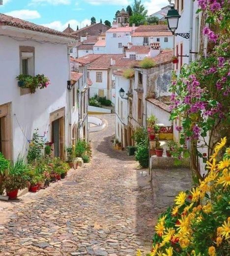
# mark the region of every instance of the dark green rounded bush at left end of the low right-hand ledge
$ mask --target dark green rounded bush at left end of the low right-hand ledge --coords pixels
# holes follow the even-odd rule
[[[137,151],[135,153],[136,160],[139,161],[140,165],[147,168],[149,165],[149,152],[148,152],[148,142],[142,140],[137,145]]]

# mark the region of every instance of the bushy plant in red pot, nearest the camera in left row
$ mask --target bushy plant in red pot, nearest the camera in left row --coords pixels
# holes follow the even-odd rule
[[[19,175],[8,175],[4,179],[4,188],[9,199],[16,199],[18,191],[27,187],[27,181]]]

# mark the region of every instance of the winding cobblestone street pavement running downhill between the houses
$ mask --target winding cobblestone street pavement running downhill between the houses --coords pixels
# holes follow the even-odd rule
[[[156,214],[147,170],[112,148],[115,116],[91,133],[93,159],[21,197],[0,222],[0,256],[134,256],[150,249]],[[6,211],[6,209],[5,209]]]

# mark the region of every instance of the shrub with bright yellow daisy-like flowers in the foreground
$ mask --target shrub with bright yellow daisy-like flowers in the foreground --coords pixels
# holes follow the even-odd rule
[[[208,175],[199,186],[179,192],[173,208],[163,213],[155,227],[147,256],[227,256],[230,243],[230,148],[219,161],[227,143],[217,143],[210,156]],[[141,256],[140,251],[137,255]]]

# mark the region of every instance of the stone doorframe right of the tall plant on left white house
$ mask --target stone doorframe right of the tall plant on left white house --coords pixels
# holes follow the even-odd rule
[[[65,160],[65,107],[50,113],[50,141],[52,140],[52,123],[60,120],[59,126],[59,154],[62,160]]]

